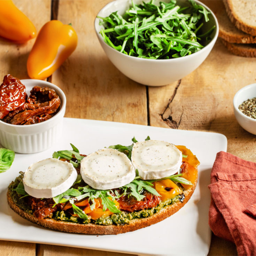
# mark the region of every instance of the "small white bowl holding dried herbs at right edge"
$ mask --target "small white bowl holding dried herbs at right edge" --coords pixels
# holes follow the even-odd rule
[[[256,97],[256,84],[250,84],[243,88],[241,88],[234,96],[233,99],[233,108],[235,118],[238,123],[245,129],[246,131],[256,134],[256,119],[248,117],[243,114],[239,109],[239,105],[248,99],[252,99]]]

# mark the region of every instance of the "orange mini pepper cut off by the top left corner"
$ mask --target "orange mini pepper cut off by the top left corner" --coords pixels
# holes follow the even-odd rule
[[[11,0],[0,0],[0,36],[17,43],[36,37],[36,28]]]

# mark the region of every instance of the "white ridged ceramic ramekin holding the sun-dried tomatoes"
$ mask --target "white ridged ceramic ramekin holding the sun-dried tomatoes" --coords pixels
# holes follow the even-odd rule
[[[37,79],[24,79],[21,82],[25,85],[28,96],[34,86],[47,86],[53,88],[61,100],[59,112],[44,122],[13,125],[0,121],[0,143],[3,147],[16,153],[36,153],[50,148],[59,139],[66,109],[66,97],[63,91],[52,83]]]

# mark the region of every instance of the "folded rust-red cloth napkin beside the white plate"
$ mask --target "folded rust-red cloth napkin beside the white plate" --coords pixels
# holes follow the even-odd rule
[[[256,163],[219,152],[208,187],[212,232],[234,242],[238,255],[256,255]]]

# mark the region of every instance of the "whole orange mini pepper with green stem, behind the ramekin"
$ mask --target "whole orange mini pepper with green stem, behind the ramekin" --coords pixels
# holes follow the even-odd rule
[[[30,78],[45,79],[75,51],[77,34],[71,25],[53,20],[42,26],[29,54],[27,70]]]

